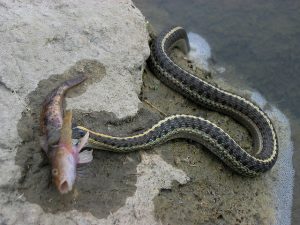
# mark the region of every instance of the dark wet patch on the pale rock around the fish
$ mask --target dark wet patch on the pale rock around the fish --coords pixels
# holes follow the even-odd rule
[[[68,96],[78,96],[85,91],[88,84],[99,82],[105,76],[105,68],[96,61],[77,62],[63,74],[40,81],[36,90],[28,95],[27,110],[22,113],[18,123],[18,132],[23,139],[16,155],[16,163],[23,168],[18,190],[24,193],[28,201],[40,205],[46,212],[76,209],[103,218],[122,207],[126,198],[134,194],[139,154],[94,151],[93,162],[78,169],[73,191],[61,195],[52,184],[50,164],[39,145],[39,113],[44,98],[62,81],[80,73],[84,73],[89,79],[70,90]],[[109,127],[112,130],[124,131],[124,134],[128,131],[126,120],[116,123],[114,121],[117,119],[108,113],[74,110],[73,114],[73,121],[79,121],[81,125],[94,130],[106,127],[110,121]],[[130,126],[138,129],[142,122],[144,121],[138,120],[136,125],[133,123]]]

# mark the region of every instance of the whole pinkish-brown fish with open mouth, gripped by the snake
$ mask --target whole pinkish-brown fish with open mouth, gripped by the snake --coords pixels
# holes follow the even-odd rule
[[[72,113],[67,111],[63,119],[62,103],[65,93],[87,78],[80,76],[67,80],[55,88],[45,99],[40,115],[41,147],[52,164],[52,177],[60,193],[72,190],[78,163],[92,160],[92,151],[80,150],[88,141],[89,134],[72,144]]]

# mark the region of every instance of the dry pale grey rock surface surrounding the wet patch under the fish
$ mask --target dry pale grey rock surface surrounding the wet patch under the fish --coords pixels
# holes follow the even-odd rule
[[[124,207],[107,219],[76,210],[45,213],[17,191],[21,168],[15,164],[15,155],[22,145],[18,121],[22,113],[32,112],[28,94],[41,80],[63,74],[82,60],[94,60],[104,67],[102,79],[94,80],[82,95],[68,99],[67,108],[107,111],[118,118],[136,114],[141,75],[149,55],[146,23],[140,11],[130,0],[1,1],[0,34],[0,223],[156,223],[152,199],[159,188],[168,188],[172,180],[188,180],[184,172],[157,155],[142,154],[136,194],[128,196]],[[159,173],[161,177],[157,177]]]

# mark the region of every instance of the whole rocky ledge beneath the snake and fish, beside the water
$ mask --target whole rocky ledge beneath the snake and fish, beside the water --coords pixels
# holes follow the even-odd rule
[[[89,79],[66,99],[75,125],[125,135],[162,114],[189,113],[217,123],[245,148],[251,139],[233,120],[198,109],[144,72],[148,32],[130,0],[1,1],[0,15],[1,224],[273,224],[276,207],[288,213],[274,201],[283,192],[272,187],[283,187],[279,175],[290,158],[249,180],[183,141],[149,152],[94,151],[74,190],[60,195],[39,147],[39,111],[54,87],[78,74]],[[173,57],[212,82],[179,53]],[[261,107],[289,140],[287,122]]]

